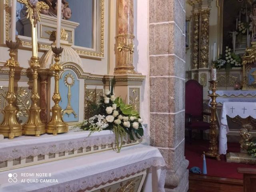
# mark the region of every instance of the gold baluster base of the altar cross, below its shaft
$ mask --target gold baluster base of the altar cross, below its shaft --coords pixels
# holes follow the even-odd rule
[[[46,131],[45,131],[45,124],[42,123],[40,118],[41,110],[40,110],[40,107],[38,106],[38,101],[40,99],[38,95],[38,90],[37,90],[37,80],[38,80],[37,69],[40,67],[38,57],[31,57],[30,67],[33,70],[33,91],[31,95],[32,105],[29,109],[28,121],[23,126],[23,134],[40,136],[41,134],[44,134]]]

